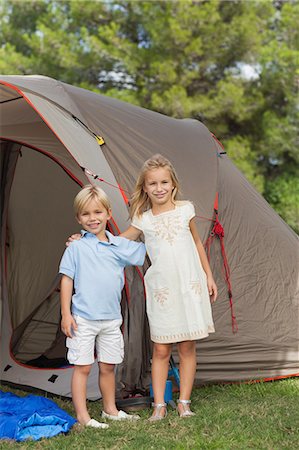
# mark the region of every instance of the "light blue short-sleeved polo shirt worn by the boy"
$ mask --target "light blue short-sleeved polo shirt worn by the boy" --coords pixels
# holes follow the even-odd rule
[[[82,238],[66,248],[59,273],[74,280],[72,314],[89,320],[121,319],[120,300],[125,266],[141,266],[145,246],[113,236],[108,242],[82,231]]]

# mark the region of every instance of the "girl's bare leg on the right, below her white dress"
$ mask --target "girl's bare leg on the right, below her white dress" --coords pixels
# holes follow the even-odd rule
[[[180,358],[180,400],[190,400],[196,372],[195,341],[179,342],[178,352]],[[189,406],[187,408],[189,409]],[[178,409],[181,413],[184,411],[184,406],[179,403]]]

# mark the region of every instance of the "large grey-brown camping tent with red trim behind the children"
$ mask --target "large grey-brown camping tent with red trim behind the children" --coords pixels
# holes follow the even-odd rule
[[[202,123],[43,76],[2,76],[0,93],[1,380],[70,396],[57,269],[78,230],[73,198],[86,183],[100,185],[117,234],[129,224],[139,169],[157,152],[173,162],[196,207],[219,287],[216,333],[197,343],[196,384],[299,374],[297,236]],[[127,390],[150,381],[144,270],[126,270],[117,378]],[[95,367],[88,397],[99,396]]]

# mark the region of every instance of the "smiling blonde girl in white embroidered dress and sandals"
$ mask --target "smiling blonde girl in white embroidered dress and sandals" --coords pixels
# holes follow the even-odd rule
[[[195,224],[192,203],[178,201],[179,182],[163,156],[147,160],[131,202],[131,226],[121,236],[144,234],[151,260],[144,282],[153,341],[154,411],[150,420],[166,417],[164,391],[172,344],[180,359],[180,417],[194,415],[190,396],[196,371],[195,342],[214,332],[211,302],[217,297],[209,262]]]

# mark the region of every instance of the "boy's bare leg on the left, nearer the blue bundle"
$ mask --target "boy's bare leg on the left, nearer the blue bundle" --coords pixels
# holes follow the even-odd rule
[[[90,420],[86,407],[87,378],[91,365],[75,366],[72,377],[72,398],[78,422],[85,425]]]

